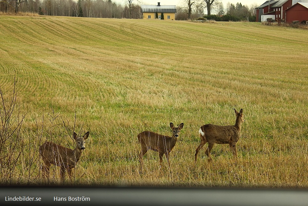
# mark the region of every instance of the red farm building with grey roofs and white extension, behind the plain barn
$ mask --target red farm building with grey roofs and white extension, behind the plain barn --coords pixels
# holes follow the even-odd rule
[[[286,10],[297,3],[308,3],[308,0],[269,0],[264,2],[257,10],[257,22],[267,21],[271,18],[275,21],[286,21]],[[302,12],[300,10],[299,12]],[[293,15],[293,14],[292,14]],[[298,14],[299,15],[299,14]],[[289,20],[288,20],[289,21]]]

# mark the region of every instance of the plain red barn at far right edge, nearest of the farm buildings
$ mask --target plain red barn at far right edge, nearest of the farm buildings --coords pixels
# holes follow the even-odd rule
[[[286,22],[308,21],[308,3],[296,3],[286,10]]]

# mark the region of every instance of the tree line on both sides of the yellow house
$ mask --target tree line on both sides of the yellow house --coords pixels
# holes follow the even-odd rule
[[[0,0],[0,12],[31,12],[39,15],[75,16],[93,18],[142,19],[141,6],[135,0],[125,0],[125,5],[111,0]],[[257,5],[245,6],[228,3],[224,7],[218,0],[182,0],[177,6],[175,20],[204,17],[216,21],[255,21]],[[204,11],[208,14],[205,15]],[[215,13],[216,15],[212,15]]]

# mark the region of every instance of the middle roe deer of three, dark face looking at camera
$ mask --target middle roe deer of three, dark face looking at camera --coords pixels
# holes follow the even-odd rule
[[[141,171],[143,168],[143,156],[149,150],[153,150],[159,153],[160,168],[163,162],[163,156],[166,154],[166,159],[170,169],[169,153],[172,151],[176,141],[179,137],[179,132],[183,128],[184,123],[181,123],[179,127],[174,127],[170,122],[170,128],[172,129],[172,137],[157,134],[155,132],[144,131],[138,134],[138,141],[141,144],[141,152],[139,155],[139,162]]]

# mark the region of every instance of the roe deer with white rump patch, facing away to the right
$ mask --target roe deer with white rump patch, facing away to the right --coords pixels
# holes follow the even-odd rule
[[[205,145],[206,142],[209,143],[208,148],[205,151],[206,155],[208,156],[209,162],[212,161],[210,153],[215,143],[229,144],[233,152],[233,157],[237,158],[236,143],[241,136],[241,124],[245,120],[243,115],[243,109],[241,109],[240,112],[237,112],[236,109],[234,109],[234,111],[236,114],[235,125],[220,126],[214,124],[205,124],[201,126],[201,128],[199,129],[201,143],[196,149],[195,162],[197,162],[197,155],[199,150]]]

